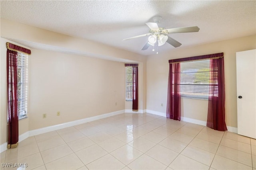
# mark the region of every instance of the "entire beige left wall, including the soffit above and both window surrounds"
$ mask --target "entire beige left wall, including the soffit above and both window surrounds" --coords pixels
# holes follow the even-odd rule
[[[5,39],[1,38],[0,144],[6,142],[7,131],[6,41],[38,45],[38,48],[30,47],[28,118],[19,121],[19,135],[41,127],[132,109],[125,106],[124,62],[139,63],[139,109],[146,109],[145,56],[2,19],[1,37]],[[45,45],[56,47],[57,51],[78,51],[81,55],[46,50]],[[56,115],[57,111],[60,116]],[[43,113],[47,115],[45,119]]]

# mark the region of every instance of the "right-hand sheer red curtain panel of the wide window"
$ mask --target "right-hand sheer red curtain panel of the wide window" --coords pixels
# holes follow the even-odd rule
[[[210,85],[207,127],[226,131],[224,57],[210,59]]]

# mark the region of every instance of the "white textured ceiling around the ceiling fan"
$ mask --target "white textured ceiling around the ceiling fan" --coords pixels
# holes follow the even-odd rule
[[[164,28],[198,26],[199,32],[169,34],[182,45],[177,48],[256,34],[256,1],[174,0],[1,0],[1,18],[89,39],[142,55],[148,33],[146,22],[162,16]],[[172,50],[166,43],[159,53]]]

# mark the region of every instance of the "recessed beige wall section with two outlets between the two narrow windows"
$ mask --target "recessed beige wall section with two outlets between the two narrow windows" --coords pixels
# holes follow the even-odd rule
[[[124,109],[123,63],[32,51],[30,130]],[[46,119],[42,119],[43,113]]]

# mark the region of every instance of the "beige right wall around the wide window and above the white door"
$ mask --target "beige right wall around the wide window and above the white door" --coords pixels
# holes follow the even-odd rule
[[[172,47],[170,47],[172,48]],[[236,111],[236,52],[256,48],[256,35],[230,39],[187,48],[177,48],[168,53],[148,56],[147,59],[147,109],[166,113],[167,86],[170,59],[224,52],[226,88],[226,124],[237,127]],[[207,120],[207,100],[182,98],[182,116]],[[161,103],[164,106],[161,106]]]

